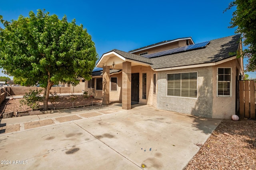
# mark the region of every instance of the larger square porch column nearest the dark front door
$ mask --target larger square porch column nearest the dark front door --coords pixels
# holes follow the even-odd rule
[[[122,109],[131,109],[131,79],[132,79],[132,63],[124,62],[122,70]]]

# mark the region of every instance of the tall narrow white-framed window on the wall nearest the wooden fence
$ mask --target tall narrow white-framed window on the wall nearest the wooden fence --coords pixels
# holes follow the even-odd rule
[[[230,96],[231,68],[218,68],[218,96]]]

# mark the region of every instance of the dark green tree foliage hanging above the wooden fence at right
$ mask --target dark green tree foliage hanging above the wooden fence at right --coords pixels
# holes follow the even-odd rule
[[[226,10],[236,6],[231,19],[231,28],[242,33],[243,43],[247,46],[242,57],[248,58],[247,71],[256,71],[256,0],[234,0]]]

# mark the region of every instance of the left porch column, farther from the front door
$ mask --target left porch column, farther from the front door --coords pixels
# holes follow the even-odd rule
[[[109,66],[103,66],[103,76],[102,76],[102,104],[109,105]]]

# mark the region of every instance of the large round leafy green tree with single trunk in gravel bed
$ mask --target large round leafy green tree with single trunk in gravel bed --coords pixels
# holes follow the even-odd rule
[[[62,20],[49,12],[29,12],[29,17],[6,21],[0,16],[0,67],[26,84],[42,84],[44,110],[48,109],[54,83],[77,85],[78,77],[90,78],[98,59],[92,37],[76,20]]]

